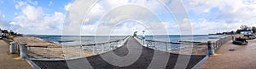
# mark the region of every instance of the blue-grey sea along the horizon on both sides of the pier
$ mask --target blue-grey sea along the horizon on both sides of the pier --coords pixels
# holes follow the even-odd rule
[[[27,34],[26,36],[36,37],[40,40],[48,40],[61,45],[86,45],[93,43],[108,42],[110,40],[121,40],[127,35],[108,35],[108,36],[94,36],[94,35],[39,35],[39,34]],[[194,41],[194,42],[207,42],[211,40],[218,40],[222,35],[146,35],[147,40],[158,40],[165,42],[177,42],[177,41]],[[142,37],[139,35],[138,37]]]

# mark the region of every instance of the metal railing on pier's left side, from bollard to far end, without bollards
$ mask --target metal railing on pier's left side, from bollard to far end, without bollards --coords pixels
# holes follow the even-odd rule
[[[65,45],[65,46],[62,46],[62,47],[73,47],[74,49],[80,49],[79,50],[80,53],[83,50],[87,50],[87,47],[89,47],[88,50],[90,52],[92,52],[91,55],[96,55],[96,54],[99,54],[99,53],[106,52],[108,50],[116,49],[120,45],[124,45],[127,38],[129,38],[129,37],[130,37],[130,35],[126,36],[124,39],[111,40],[111,41],[108,41],[108,42],[95,43],[95,44],[85,44],[85,45]],[[18,42],[17,42],[17,44],[20,45]],[[72,52],[72,51],[64,51],[63,50],[62,54],[60,54],[60,52],[55,52],[55,51],[60,51],[60,50],[51,50],[51,48],[53,48],[53,49],[60,48],[60,47],[55,47],[53,45],[47,45],[47,46],[44,46],[44,45],[26,45],[25,47],[28,50],[28,52],[27,52],[28,53],[28,58],[29,59],[38,59],[38,60],[64,59],[64,58],[66,58],[65,53]],[[106,49],[105,47],[109,47],[109,49]],[[34,49],[32,49],[32,48],[34,48],[34,49],[35,48],[42,48],[43,52],[41,52],[41,53],[38,53],[37,51],[33,52]],[[73,50],[73,48],[71,50]],[[67,49],[67,48],[65,48],[65,49]],[[75,53],[75,55],[73,55],[73,56],[79,56],[79,55],[77,55],[77,53],[78,53],[77,51],[75,51],[73,53]],[[55,54],[57,54],[58,56],[55,56]],[[36,58],[34,56],[36,56]],[[84,57],[84,56],[82,56],[82,54],[80,54],[79,57]],[[44,58],[46,58],[46,59],[44,59]],[[71,57],[69,59],[72,59],[72,58],[73,57]],[[78,57],[74,57],[74,58],[78,58]]]

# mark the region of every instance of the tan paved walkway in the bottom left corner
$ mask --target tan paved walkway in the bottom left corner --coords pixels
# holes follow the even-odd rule
[[[9,44],[0,40],[0,69],[32,69],[25,60],[15,60],[17,57],[9,54]]]

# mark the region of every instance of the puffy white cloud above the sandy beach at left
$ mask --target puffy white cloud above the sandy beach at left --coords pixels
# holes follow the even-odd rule
[[[9,23],[12,30],[23,34],[61,34],[65,19],[63,13],[47,14],[43,8],[26,2],[18,2],[15,7],[20,12]]]

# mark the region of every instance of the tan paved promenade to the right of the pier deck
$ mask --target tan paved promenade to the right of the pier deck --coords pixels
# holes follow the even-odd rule
[[[201,69],[255,69],[255,58],[256,40],[248,40],[248,45],[233,45],[230,40],[215,56],[209,57]]]

